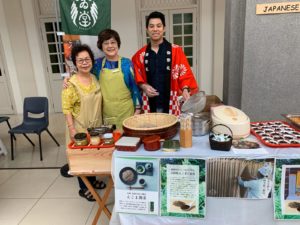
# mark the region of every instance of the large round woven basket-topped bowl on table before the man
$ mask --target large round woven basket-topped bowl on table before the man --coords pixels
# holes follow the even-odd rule
[[[178,127],[177,117],[166,113],[139,114],[123,121],[124,135],[130,137],[159,135],[170,139],[177,134]]]

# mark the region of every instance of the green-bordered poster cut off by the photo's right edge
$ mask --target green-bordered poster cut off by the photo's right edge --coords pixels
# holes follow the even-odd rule
[[[277,159],[274,187],[275,219],[300,219],[300,159]]]

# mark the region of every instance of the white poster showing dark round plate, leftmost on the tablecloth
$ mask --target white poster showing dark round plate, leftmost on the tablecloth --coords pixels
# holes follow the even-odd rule
[[[159,159],[119,157],[115,160],[117,212],[159,213]]]

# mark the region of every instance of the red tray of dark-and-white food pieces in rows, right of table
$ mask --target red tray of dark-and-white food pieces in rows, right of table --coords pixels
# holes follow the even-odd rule
[[[269,147],[300,147],[300,130],[285,121],[252,122],[251,133]]]

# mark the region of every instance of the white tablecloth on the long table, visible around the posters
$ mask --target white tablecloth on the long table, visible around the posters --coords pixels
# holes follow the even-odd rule
[[[175,137],[178,139],[178,137]],[[208,136],[193,137],[193,147],[183,149],[179,152],[149,152],[140,147],[136,152],[115,151],[113,154],[113,163],[116,157],[251,157],[251,158],[300,158],[300,148],[269,148],[263,146],[268,152],[267,155],[236,155],[232,151],[212,151],[209,146]],[[153,215],[138,215],[115,213],[110,224],[122,225],[296,225],[299,221],[279,221],[274,220],[273,199],[266,200],[248,200],[233,198],[213,198],[206,199],[206,217],[205,219],[186,219],[177,217],[161,217]]]

